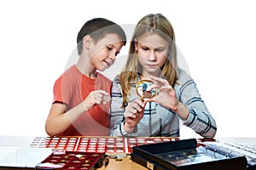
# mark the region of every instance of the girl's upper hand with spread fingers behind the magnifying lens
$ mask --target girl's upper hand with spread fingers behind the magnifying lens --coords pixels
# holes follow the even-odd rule
[[[172,109],[172,111],[177,111],[178,99],[175,90],[167,82],[166,79],[160,77],[150,77],[154,81],[154,85],[148,88],[148,91],[153,88],[159,88],[159,94],[151,99],[144,99],[145,101],[154,101],[163,105],[167,108]]]

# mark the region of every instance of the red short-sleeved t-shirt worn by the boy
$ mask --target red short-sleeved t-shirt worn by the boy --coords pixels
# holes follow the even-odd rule
[[[96,74],[96,79],[92,79],[84,76],[75,65],[67,69],[55,82],[53,103],[64,103],[69,111],[79,105],[91,91],[102,89],[110,94],[112,82],[101,73]],[[95,105],[59,136],[108,136],[109,105]]]

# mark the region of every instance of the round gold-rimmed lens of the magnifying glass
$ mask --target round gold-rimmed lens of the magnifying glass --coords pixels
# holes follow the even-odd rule
[[[151,80],[141,80],[137,82],[136,85],[136,92],[137,96],[140,99],[150,99],[153,98],[155,95],[158,94],[158,90],[156,88],[152,88],[151,90],[150,87],[154,85],[154,82]]]

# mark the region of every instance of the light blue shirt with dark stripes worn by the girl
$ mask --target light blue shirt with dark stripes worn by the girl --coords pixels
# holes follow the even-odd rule
[[[189,107],[187,120],[182,121],[177,114],[155,102],[148,102],[145,106],[143,119],[137,124],[132,133],[124,128],[123,97],[119,83],[119,75],[113,79],[112,103],[110,111],[110,135],[112,136],[172,136],[179,137],[180,123],[192,128],[195,133],[204,138],[213,138],[216,131],[216,122],[207,110],[201,99],[194,80],[183,70],[178,70],[177,85],[174,87],[178,100]],[[131,83],[129,100],[137,98],[136,84]]]

